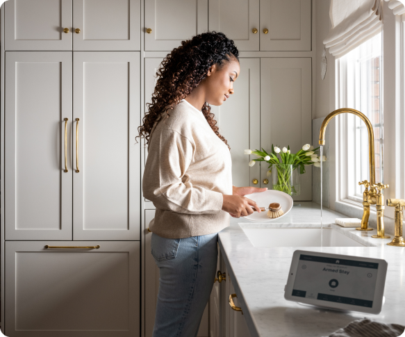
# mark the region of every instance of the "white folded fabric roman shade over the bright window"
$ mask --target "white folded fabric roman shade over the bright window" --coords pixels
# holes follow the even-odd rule
[[[331,30],[324,40],[329,53],[340,58],[380,33],[383,19],[381,1],[331,0]]]

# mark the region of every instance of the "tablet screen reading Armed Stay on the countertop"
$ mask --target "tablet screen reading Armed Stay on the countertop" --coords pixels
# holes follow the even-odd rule
[[[372,308],[379,264],[301,254],[292,296]]]

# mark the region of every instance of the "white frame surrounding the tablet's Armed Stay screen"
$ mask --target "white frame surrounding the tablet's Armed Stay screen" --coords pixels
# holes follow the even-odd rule
[[[327,302],[327,301],[322,301],[320,299],[310,299],[310,298],[306,298],[306,297],[292,296],[291,295],[292,289],[294,287],[295,277],[297,276],[299,256],[301,254],[330,257],[330,258],[344,259],[344,260],[379,263],[379,268],[378,268],[378,273],[377,273],[377,282],[376,282],[376,286],[375,286],[372,308],[366,308],[363,306],[353,306],[350,304],[343,304],[343,303],[337,303],[337,302]],[[287,299],[288,301],[301,302],[301,303],[305,303],[305,304],[311,304],[314,306],[322,306],[322,307],[328,308],[328,309],[337,309],[337,310],[343,310],[343,311],[359,311],[361,313],[377,314],[377,313],[381,312],[381,307],[383,305],[383,294],[384,294],[384,286],[386,283],[387,267],[388,267],[388,263],[385,260],[382,260],[379,258],[365,258],[365,257],[361,257],[361,256],[331,254],[331,253],[322,253],[322,252],[310,252],[307,250],[296,250],[294,252],[294,254],[292,254],[292,261],[291,261],[291,266],[290,266],[290,272],[288,273],[286,289],[284,291],[284,298]]]

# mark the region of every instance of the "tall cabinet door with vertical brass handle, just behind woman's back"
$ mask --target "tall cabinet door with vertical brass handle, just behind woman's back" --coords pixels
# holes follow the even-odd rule
[[[74,240],[140,240],[140,53],[73,54]]]

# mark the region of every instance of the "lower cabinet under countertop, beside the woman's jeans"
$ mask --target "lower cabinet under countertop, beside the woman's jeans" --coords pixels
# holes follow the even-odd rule
[[[234,311],[229,305],[229,295],[235,294],[231,277],[226,269],[225,261],[220,252],[217,270],[224,274],[225,280],[215,282],[210,298],[210,337],[250,337],[245,316]],[[235,306],[238,297],[233,297]]]

